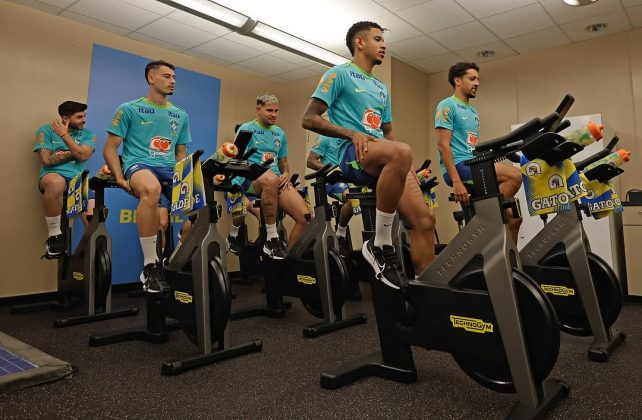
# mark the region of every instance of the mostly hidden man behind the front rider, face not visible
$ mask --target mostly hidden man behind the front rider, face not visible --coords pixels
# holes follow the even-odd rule
[[[308,168],[317,171],[327,164],[338,165],[339,162],[336,160],[337,146],[338,143],[335,140],[328,137],[319,137],[308,155]],[[343,203],[339,211],[339,223],[337,225],[336,235],[337,241],[339,242],[339,252],[344,257],[347,257],[349,254],[346,233],[348,223],[353,214],[352,204],[350,200],[346,200],[345,198],[345,195],[348,193],[348,187],[349,185],[345,182],[336,182],[326,186],[328,196]]]

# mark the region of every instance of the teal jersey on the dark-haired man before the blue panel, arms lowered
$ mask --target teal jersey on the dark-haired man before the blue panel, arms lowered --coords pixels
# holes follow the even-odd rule
[[[134,163],[173,168],[176,145],[192,141],[185,111],[171,102],[160,106],[145,97],[119,106],[107,132],[123,139],[123,172]]]

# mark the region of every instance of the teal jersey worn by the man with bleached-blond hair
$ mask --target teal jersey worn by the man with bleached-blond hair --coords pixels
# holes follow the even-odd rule
[[[277,125],[264,127],[257,120],[241,124],[238,131],[241,130],[254,133],[246,150],[256,147],[256,152],[254,152],[248,160],[251,163],[263,163],[270,158],[274,158],[270,169],[272,169],[272,172],[277,176],[280,176],[279,159],[288,157],[288,137],[285,131]]]

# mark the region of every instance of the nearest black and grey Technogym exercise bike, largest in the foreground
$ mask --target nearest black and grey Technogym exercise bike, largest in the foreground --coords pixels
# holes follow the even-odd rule
[[[411,346],[417,345],[450,353],[482,386],[516,392],[511,418],[538,418],[568,395],[568,386],[547,379],[560,346],[557,317],[546,295],[519,269],[505,212],[518,206],[501,196],[495,173],[495,162],[524,139],[535,137],[534,146],[550,146],[541,144],[539,131],[557,118],[553,113],[533,119],[477,145],[467,162],[477,192],[475,215],[401,290],[371,272],[380,351],[323,373],[321,387],[335,389],[366,376],[413,383],[417,371]],[[374,231],[375,194],[355,196],[361,200],[365,229]],[[393,241],[400,249],[399,238]]]

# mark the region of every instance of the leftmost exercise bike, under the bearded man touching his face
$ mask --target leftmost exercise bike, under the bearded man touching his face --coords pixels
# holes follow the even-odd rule
[[[82,174],[83,181],[89,172]],[[63,195],[61,230],[65,252],[58,258],[58,292],[55,301],[15,305],[12,314],[36,311],[70,311],[82,306],[84,315],[53,321],[55,328],[71,327],[90,322],[133,316],[138,308],[112,310],[111,307],[111,235],[105,227],[108,209],[105,207],[105,188],[118,188],[114,178],[92,177],[89,188],[96,194],[94,215],[89,221],[76,249],[72,249],[72,235],[67,214],[67,192]]]

